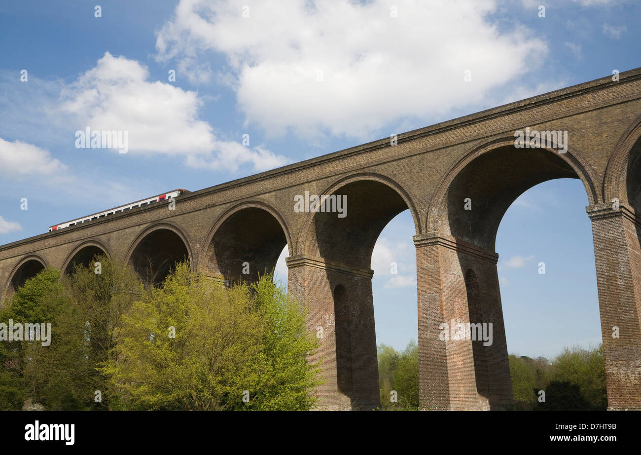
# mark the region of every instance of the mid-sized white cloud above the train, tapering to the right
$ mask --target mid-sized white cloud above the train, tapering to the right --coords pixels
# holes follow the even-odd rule
[[[136,60],[105,53],[60,99],[56,110],[71,116],[76,130],[128,132],[129,153],[183,155],[190,166],[234,171],[240,164],[256,171],[287,164],[264,148],[215,137],[212,126],[199,119],[203,101],[196,92],[149,80]]]

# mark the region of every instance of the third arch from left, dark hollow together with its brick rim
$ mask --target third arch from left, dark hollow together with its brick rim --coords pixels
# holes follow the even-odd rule
[[[187,234],[170,223],[155,224],[136,237],[126,255],[126,264],[149,286],[160,286],[178,262],[189,261],[194,271],[194,255]]]

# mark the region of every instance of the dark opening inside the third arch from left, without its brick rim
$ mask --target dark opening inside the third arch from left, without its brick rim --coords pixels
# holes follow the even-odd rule
[[[176,264],[190,261],[185,241],[168,228],[159,228],[147,234],[135,246],[129,264],[140,275],[146,286],[160,286]]]

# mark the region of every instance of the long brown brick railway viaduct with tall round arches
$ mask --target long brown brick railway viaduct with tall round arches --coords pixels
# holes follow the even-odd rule
[[[528,138],[529,148],[517,148],[515,133],[526,127],[567,132],[567,151]],[[592,221],[608,409],[638,410],[640,138],[635,69],[202,189],[176,198],[175,210],[158,203],[0,246],[0,292],[46,266],[88,263],[96,252],[135,267],[150,256],[188,257],[213,279],[251,280],[287,245],[288,292],[309,306],[309,328],[324,328],[320,408],[370,408],[379,404],[372,249],[385,225],[410,210],[421,407],[502,409],[512,386],[497,228],[526,189],[579,178]],[[347,216],[295,210],[306,191],[346,196]],[[242,275],[243,262],[250,275]],[[492,323],[494,342],[442,341],[439,325],[451,319]]]

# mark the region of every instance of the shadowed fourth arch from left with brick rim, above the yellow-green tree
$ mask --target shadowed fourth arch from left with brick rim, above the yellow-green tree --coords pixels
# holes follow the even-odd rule
[[[217,219],[204,242],[201,268],[227,284],[254,282],[272,273],[285,246],[292,253],[283,214],[263,200],[237,203]]]

